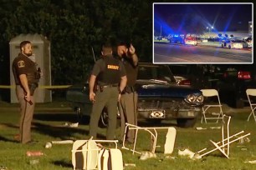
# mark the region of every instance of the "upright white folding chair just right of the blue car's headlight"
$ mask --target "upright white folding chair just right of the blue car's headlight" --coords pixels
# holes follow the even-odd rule
[[[218,103],[217,104],[213,104],[213,103],[209,103],[209,104],[205,104],[202,107],[202,118],[201,118],[201,123],[204,122],[207,123],[207,119],[209,120],[214,120],[217,119],[216,122],[218,122],[218,119],[223,119],[223,105],[220,102],[219,96],[218,96],[218,91],[215,89],[201,89],[202,95],[204,97],[212,97],[212,98],[217,98],[218,99]],[[210,114],[210,112],[208,112],[209,108],[213,108],[213,107],[217,107],[219,109],[219,112],[216,112],[214,115],[214,112],[211,112],[212,117],[207,117],[207,114]]]

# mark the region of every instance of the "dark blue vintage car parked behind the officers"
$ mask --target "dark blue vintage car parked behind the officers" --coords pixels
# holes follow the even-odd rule
[[[67,100],[79,112],[90,116],[91,102],[88,85],[70,87]],[[136,81],[138,92],[137,114],[139,120],[160,122],[164,119],[177,119],[177,126],[192,127],[201,113],[202,92],[177,84],[170,67],[147,62],[139,64]],[[103,119],[106,113],[103,112]]]

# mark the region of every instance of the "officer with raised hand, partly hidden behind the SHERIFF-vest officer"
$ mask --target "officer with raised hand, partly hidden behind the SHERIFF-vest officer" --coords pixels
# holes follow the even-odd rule
[[[127,72],[127,85],[121,94],[119,102],[120,122],[121,122],[121,137],[125,133],[125,122],[133,125],[137,125],[137,101],[138,95],[134,85],[136,84],[138,73],[138,57],[136,55],[136,49],[132,44],[129,45],[126,42],[119,42],[117,45],[117,54],[120,60],[125,66]],[[135,131],[131,130],[126,134],[128,143],[134,143]]]

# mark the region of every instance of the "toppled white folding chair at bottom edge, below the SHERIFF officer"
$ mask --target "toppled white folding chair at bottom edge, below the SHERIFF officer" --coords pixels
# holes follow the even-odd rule
[[[102,148],[99,143],[115,143],[115,148]],[[111,166],[113,170],[123,169],[122,155],[117,143],[117,140],[92,140],[92,138],[75,141],[71,151],[73,168],[107,170]]]

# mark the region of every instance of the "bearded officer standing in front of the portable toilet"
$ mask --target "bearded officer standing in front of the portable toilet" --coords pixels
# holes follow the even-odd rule
[[[16,95],[20,104],[19,135],[20,143],[32,143],[31,122],[33,119],[33,92],[38,87],[40,72],[37,63],[30,58],[33,54],[29,41],[20,43],[20,53],[13,60],[13,75],[16,83]]]

